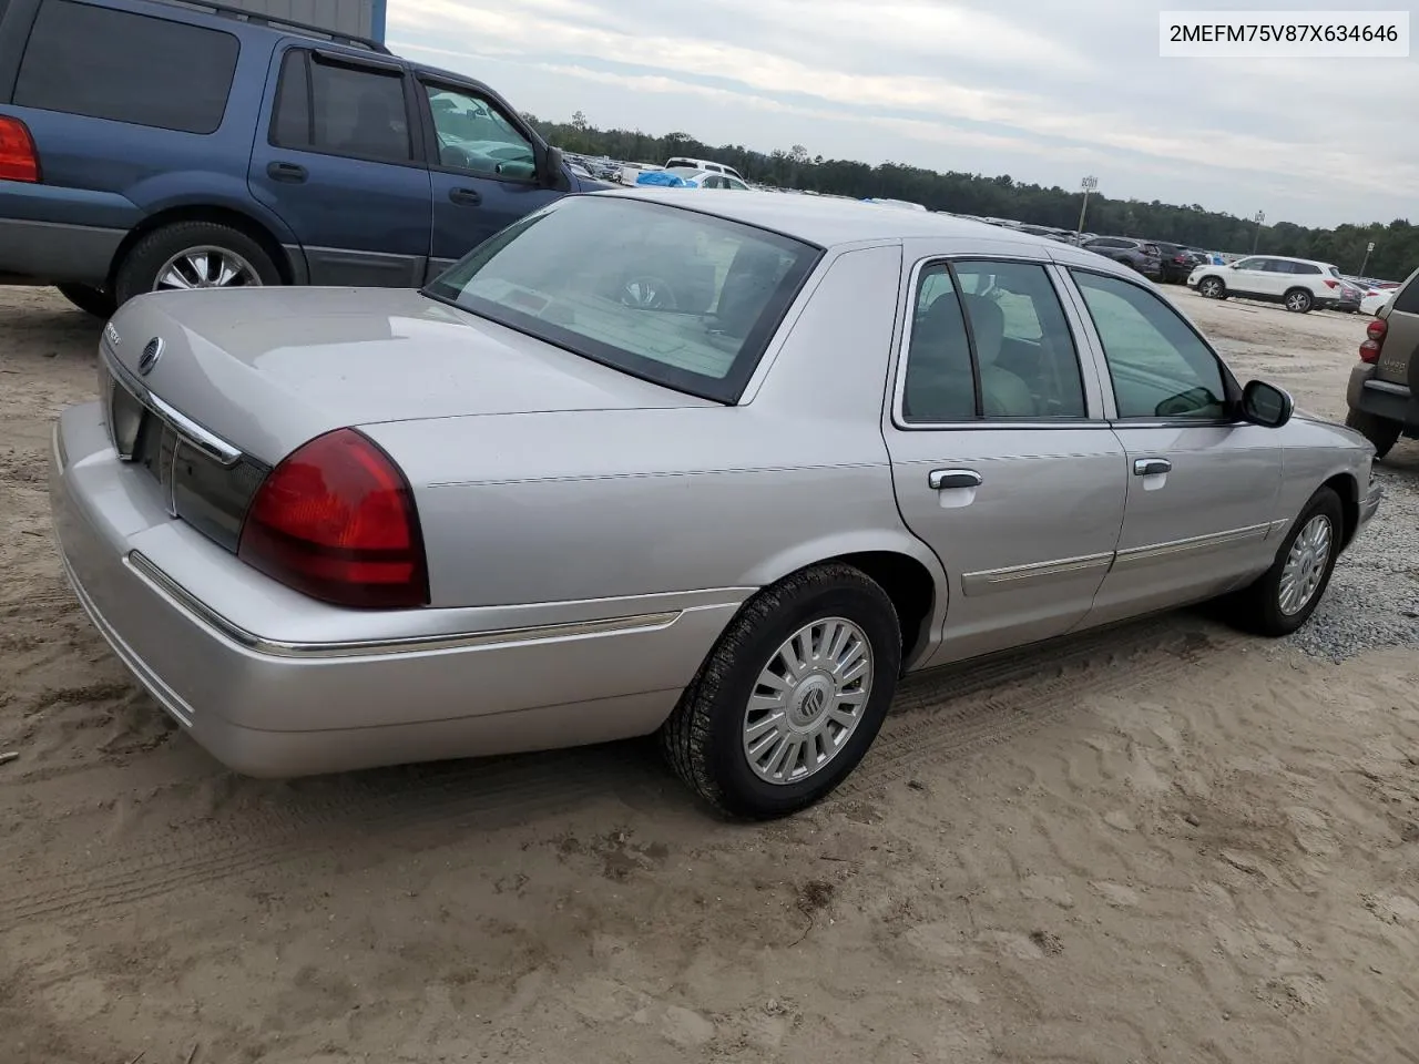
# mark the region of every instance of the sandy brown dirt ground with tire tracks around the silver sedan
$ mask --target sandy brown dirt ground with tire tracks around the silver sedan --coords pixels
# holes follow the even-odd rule
[[[1364,321],[1178,298],[1342,413]],[[914,682],[844,792],[739,827],[636,743],[223,772],[54,559],[96,338],[0,289],[0,1060],[1419,1061],[1415,444],[1344,638],[1183,613]]]

